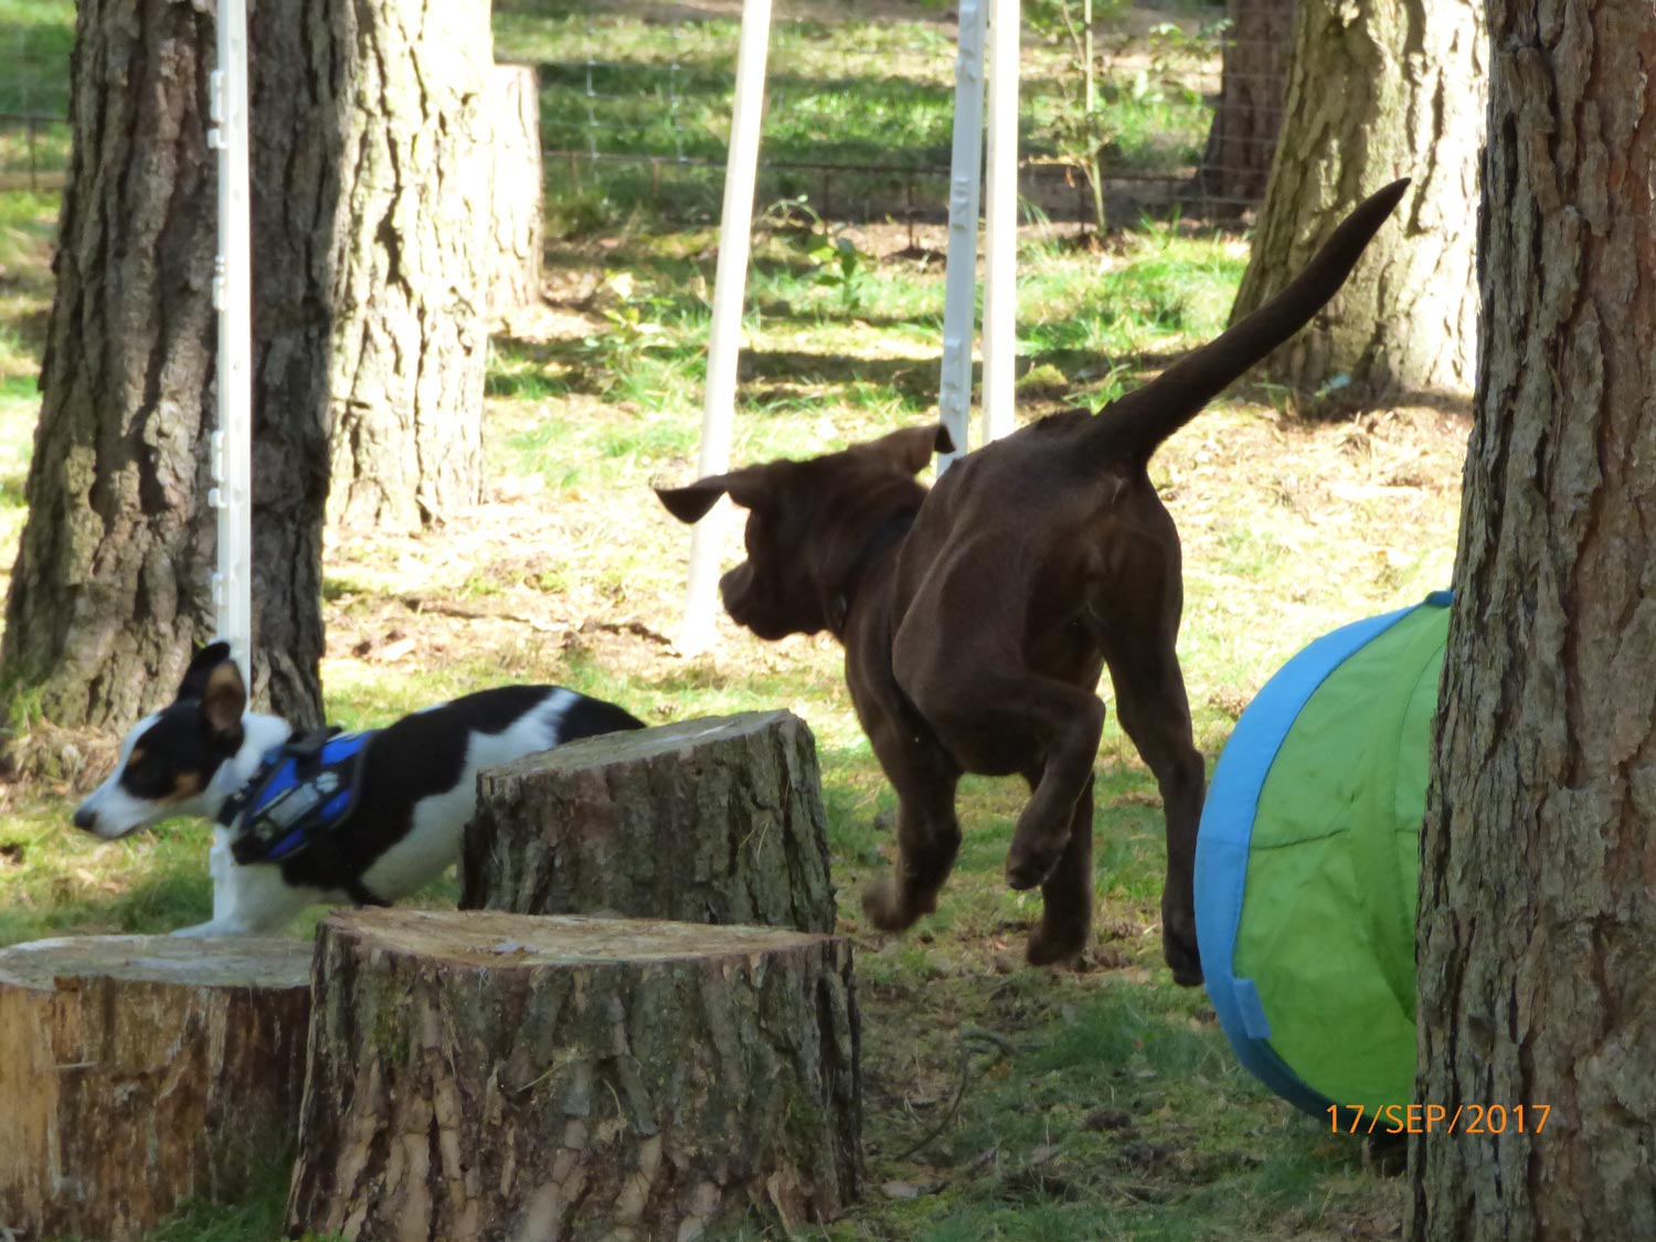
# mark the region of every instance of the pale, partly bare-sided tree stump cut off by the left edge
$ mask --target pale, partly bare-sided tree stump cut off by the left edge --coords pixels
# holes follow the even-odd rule
[[[0,949],[0,1237],[134,1237],[290,1158],[310,962],[253,937]]]

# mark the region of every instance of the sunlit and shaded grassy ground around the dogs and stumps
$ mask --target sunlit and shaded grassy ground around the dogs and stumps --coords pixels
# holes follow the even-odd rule
[[[891,28],[868,36],[876,55],[912,46],[927,73],[947,70],[932,55],[939,18],[888,17]],[[525,45],[556,33],[518,7],[500,22],[503,38]],[[644,25],[639,56],[659,33]],[[719,55],[734,46],[679,25],[681,40],[707,36]],[[611,60],[626,46],[614,30]],[[1000,881],[1023,798],[1015,782],[965,782],[965,845],[934,917],[906,937],[861,926],[856,889],[889,864],[874,818],[893,797],[851,714],[838,649],[825,638],[763,644],[724,619],[709,654],[671,647],[686,535],[649,484],[694,474],[714,235],[696,220],[666,227],[634,192],[598,187],[585,224],[561,217],[545,305],[500,325],[484,502],[427,535],[328,548],[333,719],[374,724],[465,689],[546,679],[652,720],[790,707],[810,722],[841,931],[858,951],[868,1091],[868,1194],[825,1237],[1394,1237],[1396,1177],[1255,1086],[1206,995],[1172,987],[1156,919],[1161,808],[1113,719],[1098,758],[1098,936],[1083,969],[1022,965],[1035,907]],[[53,215],[51,200],[0,195],[8,551],[23,518]],[[942,230],[853,229],[853,272],[830,280],[840,270],[810,252],[836,225],[772,219],[752,282],[735,459],[808,455],[934,417]],[[1020,417],[1065,397],[1098,404],[1211,336],[1244,262],[1244,237],[1189,224],[1144,222],[1103,247],[1078,245],[1068,227],[1028,229]],[[1447,581],[1467,431],[1464,416],[1431,409],[1303,422],[1283,414],[1285,394],[1245,396],[1217,402],[1153,464],[1184,537],[1181,659],[1211,757],[1305,641]],[[727,563],[737,555],[732,532]],[[86,758],[84,775],[96,775],[108,750]],[[0,793],[0,944],[207,916],[200,825],[99,845],[68,828],[71,798],[70,788]],[[444,883],[424,901],[452,896]],[[192,1206],[154,1239],[273,1237],[282,1197],[278,1174],[248,1202]]]

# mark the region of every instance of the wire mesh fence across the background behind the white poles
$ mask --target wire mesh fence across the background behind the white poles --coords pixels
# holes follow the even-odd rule
[[[1227,0],[1201,18],[1096,30],[1098,116],[1078,118],[1080,63],[1063,38],[1025,40],[1020,195],[1052,219],[1090,219],[1093,187],[1111,219],[1144,209],[1235,215],[1264,197],[1282,116],[1295,0]],[[634,7],[651,13],[646,7]],[[614,197],[671,215],[712,217],[724,177],[734,84],[729,38],[712,23],[656,17],[641,60],[616,50],[629,8],[566,23],[586,55],[505,58],[540,73],[542,141],[551,200]],[[878,40],[878,35],[871,35]],[[0,25],[0,189],[53,190],[70,152],[63,22]],[[1045,46],[1042,46],[1045,43]],[[805,197],[825,219],[942,219],[949,179],[952,25],[936,38],[856,65],[815,58],[800,22],[772,40],[760,189]],[[843,53],[836,53],[841,55]],[[901,65],[883,61],[899,60]],[[924,73],[914,66],[924,65]],[[841,78],[833,79],[838,71]],[[1091,142],[1088,139],[1096,139]]]

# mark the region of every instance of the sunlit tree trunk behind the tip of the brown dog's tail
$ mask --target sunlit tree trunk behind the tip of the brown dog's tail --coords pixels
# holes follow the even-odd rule
[[[1485,31],[1477,0],[1302,0],[1287,113],[1232,321],[1277,293],[1368,192],[1414,177],[1330,306],[1265,373],[1361,397],[1469,394]]]

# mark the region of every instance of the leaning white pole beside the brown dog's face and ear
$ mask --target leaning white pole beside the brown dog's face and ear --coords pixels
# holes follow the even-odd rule
[[[699,477],[730,469],[730,422],[735,416],[735,363],[742,348],[742,301],[753,232],[753,182],[758,172],[758,129],[765,111],[765,53],[770,45],[770,0],[744,0],[742,40],[735,56],[735,101],[730,154],[725,159],[724,212],[719,219],[719,270],[714,277],[714,318],[707,338],[707,392],[702,402]],[[684,629],[677,649],[705,651],[714,636],[719,553],[724,548],[727,503],[720,502],[691,528],[691,575]]]

